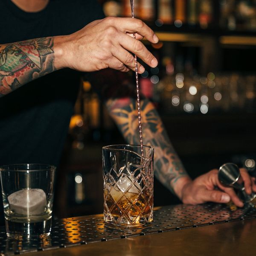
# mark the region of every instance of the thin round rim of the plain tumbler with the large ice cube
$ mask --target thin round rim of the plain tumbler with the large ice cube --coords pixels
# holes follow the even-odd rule
[[[15,167],[22,166],[23,169],[16,170]],[[25,169],[24,167],[29,168],[30,166],[41,166],[42,169]],[[9,167],[12,167],[9,169]],[[47,163],[11,163],[0,166],[0,172],[44,172],[52,169],[56,169],[57,167],[52,164]]]

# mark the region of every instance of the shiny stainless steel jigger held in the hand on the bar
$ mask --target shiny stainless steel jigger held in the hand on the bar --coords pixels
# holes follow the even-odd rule
[[[233,187],[237,196],[245,204],[250,203],[256,198],[255,193],[248,195],[245,192],[244,181],[240,175],[239,167],[236,164],[224,163],[218,170],[218,179],[223,185]]]

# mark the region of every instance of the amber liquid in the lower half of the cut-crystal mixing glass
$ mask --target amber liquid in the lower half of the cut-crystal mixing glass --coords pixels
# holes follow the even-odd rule
[[[152,222],[153,196],[149,197],[148,192],[145,190],[142,194],[122,193],[112,189],[111,193],[107,194],[105,189],[104,212],[108,212],[112,217],[112,219],[107,218],[106,221],[110,224],[124,226],[140,226]]]

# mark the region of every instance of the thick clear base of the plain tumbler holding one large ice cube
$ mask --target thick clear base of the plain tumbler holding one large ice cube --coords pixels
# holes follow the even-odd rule
[[[11,239],[44,238],[51,232],[52,218],[38,222],[15,222],[5,220],[6,235]]]

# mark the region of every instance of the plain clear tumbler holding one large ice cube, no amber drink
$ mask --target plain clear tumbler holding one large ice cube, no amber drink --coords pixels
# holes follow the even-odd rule
[[[0,167],[8,237],[49,235],[55,169],[55,166],[47,164],[12,164]]]

